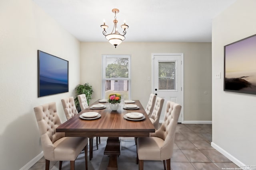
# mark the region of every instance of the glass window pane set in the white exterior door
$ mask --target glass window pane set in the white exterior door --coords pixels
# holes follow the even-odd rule
[[[175,62],[159,62],[158,89],[176,90]]]

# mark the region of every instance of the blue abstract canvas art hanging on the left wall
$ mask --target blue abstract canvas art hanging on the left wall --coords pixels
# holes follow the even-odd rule
[[[68,61],[38,50],[38,97],[68,92]]]

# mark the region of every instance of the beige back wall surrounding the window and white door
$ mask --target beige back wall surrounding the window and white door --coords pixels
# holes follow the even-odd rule
[[[184,53],[184,121],[211,121],[211,43],[123,42],[116,49],[108,42],[81,43],[81,83],[92,85],[92,102],[101,98],[102,54],[131,54],[131,98],[145,107],[152,92],[152,82],[147,80],[152,74],[152,53]]]

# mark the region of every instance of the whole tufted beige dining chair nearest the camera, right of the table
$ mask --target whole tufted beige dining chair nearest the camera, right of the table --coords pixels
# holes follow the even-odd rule
[[[167,101],[164,122],[150,137],[137,139],[137,164],[143,170],[143,160],[163,160],[164,169],[171,169],[171,156],[173,152],[174,137],[181,106]]]

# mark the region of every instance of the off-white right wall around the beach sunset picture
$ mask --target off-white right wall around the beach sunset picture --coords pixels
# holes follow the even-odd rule
[[[256,165],[256,96],[223,91],[224,45],[256,34],[255,8],[237,0],[212,25],[212,146],[238,165]]]

